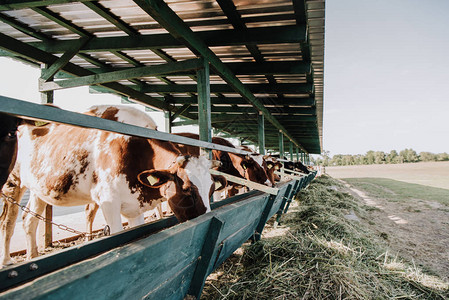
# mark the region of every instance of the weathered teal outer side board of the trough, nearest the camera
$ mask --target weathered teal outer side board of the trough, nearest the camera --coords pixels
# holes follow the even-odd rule
[[[233,235],[245,222],[258,220],[266,196],[253,196],[231,203],[212,213],[182,223],[88,261],[69,266],[3,293],[5,299],[33,296],[63,299],[76,291],[77,297],[95,299],[151,298],[161,284],[179,276],[196,263],[205,233],[213,217],[226,219],[220,239]],[[167,251],[170,249],[171,251]],[[188,280],[187,280],[188,281]]]

